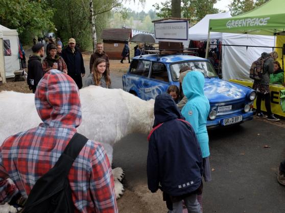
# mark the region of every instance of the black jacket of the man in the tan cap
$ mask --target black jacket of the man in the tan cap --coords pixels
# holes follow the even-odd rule
[[[68,75],[80,76],[81,73],[85,73],[83,57],[77,46],[75,46],[74,53],[72,52],[72,49],[67,46],[62,50],[61,57],[67,66]]]

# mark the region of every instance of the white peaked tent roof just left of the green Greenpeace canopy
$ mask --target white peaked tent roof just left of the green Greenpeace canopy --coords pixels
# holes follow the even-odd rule
[[[207,40],[208,37],[208,28],[209,28],[209,20],[210,19],[220,19],[220,18],[230,18],[231,15],[229,12],[226,13],[215,13],[208,14],[204,18],[202,18],[198,23],[189,28],[188,38],[190,40],[203,41]],[[221,39],[222,33],[210,33],[211,39]]]

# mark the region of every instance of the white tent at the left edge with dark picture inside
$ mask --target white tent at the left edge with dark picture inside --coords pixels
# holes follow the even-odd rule
[[[13,77],[14,71],[20,69],[20,60],[18,57],[18,32],[0,25],[0,39],[2,39],[1,41],[4,43],[3,48],[6,78]]]

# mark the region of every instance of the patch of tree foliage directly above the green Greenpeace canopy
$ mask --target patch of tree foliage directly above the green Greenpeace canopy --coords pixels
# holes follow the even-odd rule
[[[236,16],[253,10],[254,8],[259,7],[268,1],[269,0],[233,0],[228,7],[231,15]]]

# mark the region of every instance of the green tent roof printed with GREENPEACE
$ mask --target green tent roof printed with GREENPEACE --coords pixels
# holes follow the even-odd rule
[[[270,0],[247,13],[224,19],[210,19],[211,32],[274,35],[285,30],[285,1]]]

